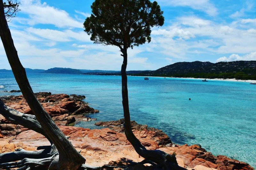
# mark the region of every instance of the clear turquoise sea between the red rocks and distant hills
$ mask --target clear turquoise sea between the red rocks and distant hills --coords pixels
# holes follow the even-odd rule
[[[121,77],[28,73],[34,92],[85,95],[97,121],[123,118]],[[0,73],[0,96],[19,90],[12,73]],[[201,144],[256,167],[256,85],[245,82],[128,76],[131,119],[162,129],[173,143]],[[191,98],[191,100],[188,100]],[[76,126],[99,128],[95,122]]]

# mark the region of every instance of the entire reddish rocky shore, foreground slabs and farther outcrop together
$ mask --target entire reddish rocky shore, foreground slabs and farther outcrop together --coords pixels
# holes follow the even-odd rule
[[[66,126],[70,123],[88,121],[86,113],[97,113],[82,101],[85,96],[51,94],[50,92],[36,93],[37,99],[52,117],[61,131],[69,137],[74,147],[81,151],[86,158],[86,164],[90,166],[125,165],[131,162],[142,161],[127,141],[123,123],[124,120],[97,122],[104,129],[84,129],[74,126]],[[22,113],[32,114],[22,96],[1,97],[6,106]],[[34,151],[39,146],[50,145],[49,141],[32,130],[7,121],[0,115],[0,152],[11,152],[15,149]],[[134,135],[147,149],[159,149],[169,154],[175,154],[180,166],[189,170],[253,170],[244,163],[226,156],[214,156],[201,148],[199,144],[188,146],[173,144],[171,139],[159,129],[140,125],[131,121]],[[154,167],[137,166],[134,169],[154,169]]]

